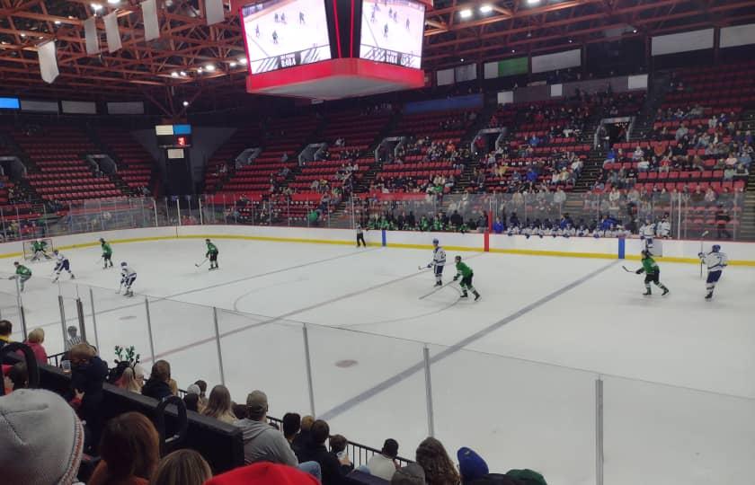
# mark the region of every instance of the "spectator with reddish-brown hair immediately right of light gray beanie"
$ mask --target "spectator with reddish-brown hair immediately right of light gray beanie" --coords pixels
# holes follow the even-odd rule
[[[105,425],[100,455],[88,485],[147,485],[160,460],[160,438],[145,415],[127,412]]]

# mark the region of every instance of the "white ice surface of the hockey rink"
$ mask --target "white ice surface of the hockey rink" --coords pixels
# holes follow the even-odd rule
[[[58,294],[68,322],[78,294],[89,340],[94,308],[103,357],[133,345],[148,369],[147,299],[155,358],[182,387],[213,385],[216,307],[232,396],[261,389],[280,417],[310,411],[306,323],[316,414],[366,445],[394,437],[408,458],[428,434],[427,348],[434,431],[449,452],[470,446],[492,471],[527,467],[556,485],[595,483],[601,379],[606,483],[750,480],[755,269],[726,269],[706,302],[695,265],[661,262],[671,295],[644,297],[642,277],[621,268],[636,261],[458,252],[475,270],[475,303],[454,286],[419,298],[433,284],[418,270],[427,250],[216,242],[212,272],[195,268],[201,239],[115,244],[107,270],[99,248],[68,250],[77,278],[61,285],[51,262],[34,263],[22,294],[29,328],[43,327],[48,352],[60,351]],[[138,272],[133,298],[116,294],[121,260]],[[0,281],[0,296],[15,322],[13,281]]]

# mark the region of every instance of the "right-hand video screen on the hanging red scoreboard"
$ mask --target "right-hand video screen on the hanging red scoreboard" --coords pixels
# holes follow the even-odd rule
[[[364,0],[360,57],[419,69],[425,5],[411,0]]]

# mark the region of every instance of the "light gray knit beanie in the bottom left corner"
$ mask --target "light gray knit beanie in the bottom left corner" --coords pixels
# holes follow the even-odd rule
[[[69,485],[84,451],[84,428],[58,394],[19,389],[0,397],[4,483]]]

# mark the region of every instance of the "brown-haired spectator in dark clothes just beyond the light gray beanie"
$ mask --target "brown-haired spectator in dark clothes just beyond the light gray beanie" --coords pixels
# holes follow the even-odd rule
[[[89,344],[81,343],[68,353],[71,361],[71,388],[67,394],[71,406],[79,418],[86,422],[86,428],[93,445],[100,439],[102,428],[102,384],[108,376],[108,366]]]

